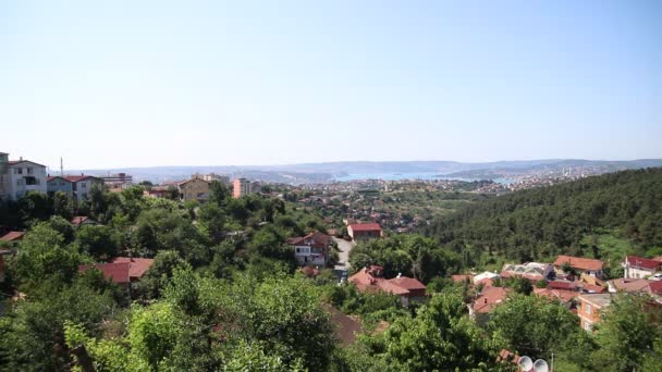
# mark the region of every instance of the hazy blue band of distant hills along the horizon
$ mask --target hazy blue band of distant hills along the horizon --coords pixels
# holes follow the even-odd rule
[[[285,165],[207,165],[207,166],[149,166],[124,168],[110,170],[84,170],[83,172],[102,175],[107,173],[125,172],[136,179],[151,182],[186,178],[191,174],[219,173],[231,177],[247,177],[267,182],[280,183],[315,183],[328,182],[350,174],[407,174],[433,173],[440,176],[466,178],[497,178],[512,173],[535,172],[537,170],[560,170],[563,168],[600,166],[605,172],[626,169],[662,166],[662,159],[645,159],[632,161],[600,161],[600,160],[523,160],[498,161],[487,163],[463,163],[456,161],[347,161],[328,163],[302,163]],[[81,171],[71,171],[77,173]]]

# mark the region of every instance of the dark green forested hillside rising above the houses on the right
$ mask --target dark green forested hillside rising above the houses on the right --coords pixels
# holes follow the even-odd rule
[[[640,255],[662,247],[662,169],[624,171],[513,193],[440,216],[426,233],[467,263],[560,252],[604,258],[600,241],[625,241]]]

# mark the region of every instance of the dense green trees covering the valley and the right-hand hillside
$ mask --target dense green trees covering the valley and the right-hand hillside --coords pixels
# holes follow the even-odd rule
[[[480,286],[449,275],[490,250],[513,260],[585,253],[587,234],[599,228],[653,249],[661,177],[624,172],[516,193],[440,220],[430,230],[437,240],[407,234],[358,244],[355,270],[379,264],[387,277],[428,284],[429,298],[409,308],[394,295],[339,285],[330,269],[310,278],[296,272],[286,238],[326,225],[281,199],[233,199],[214,183],[201,204],[146,198],[139,187],[96,189],[78,206],[60,194],[0,201],[0,225],[27,230],[10,246],[16,256],[0,287],[0,370],[513,371],[498,360],[508,349],[553,355],[557,371],[655,371],[662,314],[647,296],[617,297],[591,334],[567,308],[531,294],[531,283],[501,281],[514,290],[482,323],[467,308]],[[99,224],[74,226],[76,214]],[[567,240],[554,240],[566,232]],[[155,259],[131,292],[99,271],[78,272],[128,255]],[[335,339],[329,307],[359,321],[354,344]]]

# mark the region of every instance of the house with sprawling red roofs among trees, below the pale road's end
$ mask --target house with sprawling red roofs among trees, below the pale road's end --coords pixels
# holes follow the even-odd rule
[[[426,286],[419,281],[397,275],[397,277],[387,280],[381,277],[382,266],[371,265],[364,268],[356,274],[350,276],[350,282],[356,285],[361,293],[385,292],[400,296],[403,306],[409,306],[412,301],[422,300],[426,296]]]

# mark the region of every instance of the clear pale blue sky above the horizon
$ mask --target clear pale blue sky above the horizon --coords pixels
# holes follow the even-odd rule
[[[0,151],[662,158],[662,1],[2,1]]]

